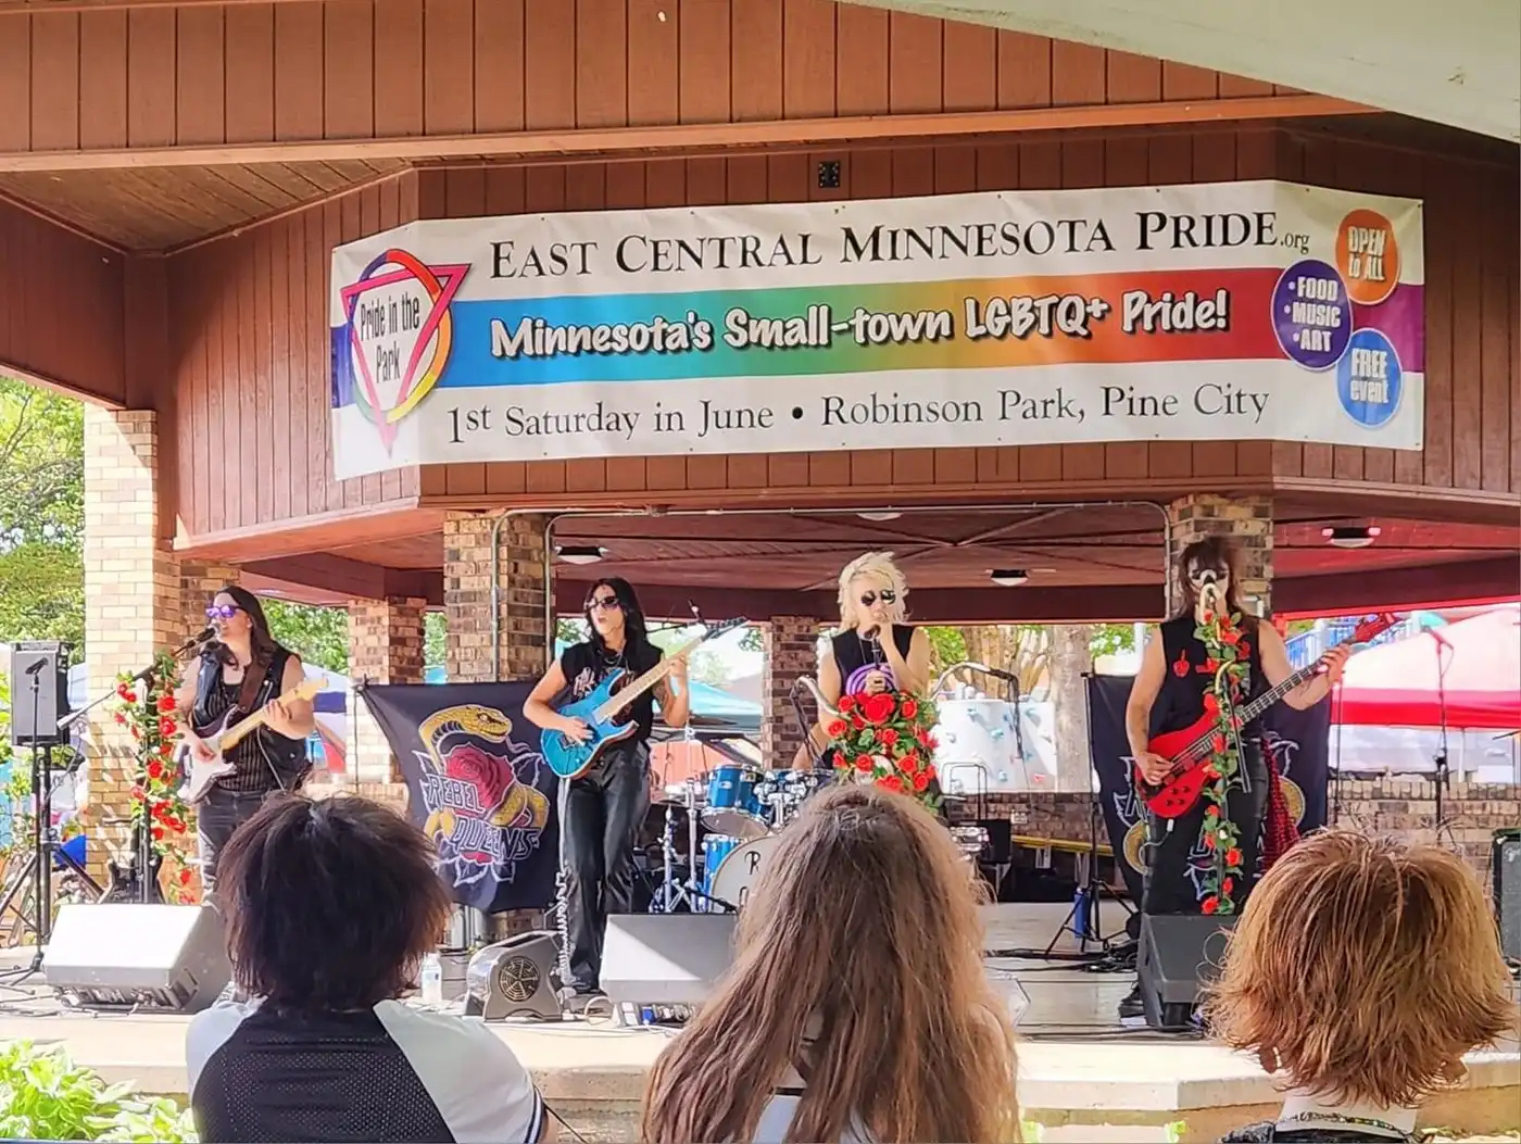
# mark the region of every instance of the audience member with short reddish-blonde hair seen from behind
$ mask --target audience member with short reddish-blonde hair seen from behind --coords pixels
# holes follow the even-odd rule
[[[1287,1079],[1226,1141],[1415,1141],[1416,1106],[1516,1027],[1484,893],[1436,846],[1311,835],[1258,884],[1208,990],[1215,1038]]]

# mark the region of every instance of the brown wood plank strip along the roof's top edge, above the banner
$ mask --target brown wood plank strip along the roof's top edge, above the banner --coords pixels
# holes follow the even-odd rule
[[[312,0],[0,15],[0,152],[1276,91],[834,0]]]

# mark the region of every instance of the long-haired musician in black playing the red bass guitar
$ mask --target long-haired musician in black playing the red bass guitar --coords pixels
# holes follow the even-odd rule
[[[1206,692],[1215,682],[1215,666],[1209,650],[1196,634],[1203,615],[1212,607],[1241,616],[1241,647],[1247,669],[1241,703],[1276,688],[1293,675],[1288,650],[1278,630],[1258,621],[1240,599],[1235,575],[1235,551],[1221,537],[1205,537],[1185,548],[1177,560],[1177,581],[1183,609],[1164,622],[1147,640],[1126,704],[1126,735],[1135,759],[1135,771],[1144,783],[1162,783],[1174,768],[1174,761],[1150,750],[1148,744],[1167,732],[1194,724],[1206,710]],[[1322,660],[1322,671],[1288,691],[1284,703],[1300,710],[1323,700],[1342,677],[1349,648],[1335,648]],[[1269,764],[1261,742],[1261,720],[1240,730],[1241,773],[1232,779],[1226,797],[1226,812],[1238,829],[1243,878],[1235,904],[1240,910],[1256,881],[1258,838],[1270,793]],[[1197,914],[1205,911],[1205,891],[1192,876],[1200,853],[1200,831],[1206,803],[1199,800],[1176,818],[1161,821],[1147,812],[1144,791],[1136,799],[1145,812],[1147,846],[1145,890],[1141,910],[1147,914]],[[1139,922],[1136,922],[1139,925]],[[1139,983],[1119,1003],[1119,1016],[1141,1015]]]

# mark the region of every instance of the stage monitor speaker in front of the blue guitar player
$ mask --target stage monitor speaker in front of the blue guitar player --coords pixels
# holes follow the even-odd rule
[[[735,960],[735,914],[610,914],[602,990],[614,1007],[707,999]]]

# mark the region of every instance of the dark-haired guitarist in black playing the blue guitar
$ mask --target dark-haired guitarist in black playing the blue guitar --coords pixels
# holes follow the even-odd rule
[[[589,695],[613,671],[633,682],[660,662],[649,642],[645,613],[627,580],[610,577],[586,596],[590,637],[573,644],[551,665],[523,703],[523,717],[578,742],[587,726],[555,710]],[[564,1001],[584,1012],[601,996],[602,937],[610,913],[630,913],[634,899],[634,843],[649,808],[649,733],[654,704],[671,727],[687,718],[686,663],[677,662],[651,691],[621,713],[637,730],[602,752],[592,768],[560,783],[561,902],[566,949],[561,958]]]

